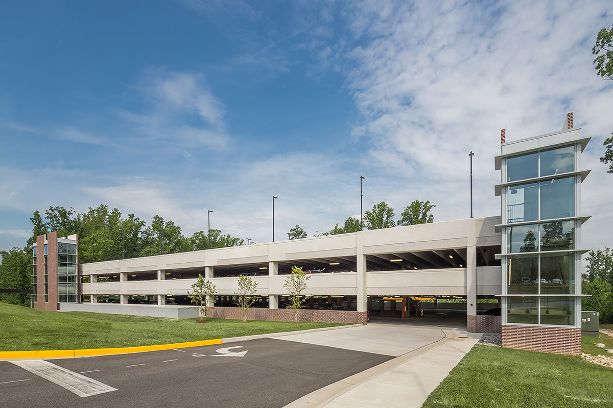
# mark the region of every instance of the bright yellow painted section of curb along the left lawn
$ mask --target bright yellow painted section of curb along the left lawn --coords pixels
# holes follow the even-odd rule
[[[172,350],[181,347],[209,346],[210,344],[221,343],[223,343],[223,339],[188,341],[186,343],[158,344],[156,346],[116,347],[113,349],[0,351],[0,359],[10,360],[12,358],[91,357],[93,355],[142,353],[146,351]]]

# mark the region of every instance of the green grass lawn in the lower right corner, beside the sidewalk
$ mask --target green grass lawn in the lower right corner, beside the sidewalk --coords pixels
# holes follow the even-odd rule
[[[611,390],[613,369],[580,357],[474,346],[423,407],[613,407]]]

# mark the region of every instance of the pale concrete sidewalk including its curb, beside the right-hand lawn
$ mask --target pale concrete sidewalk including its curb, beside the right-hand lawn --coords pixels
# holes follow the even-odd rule
[[[386,363],[297,399],[285,408],[421,407],[428,395],[481,338],[460,329]]]

